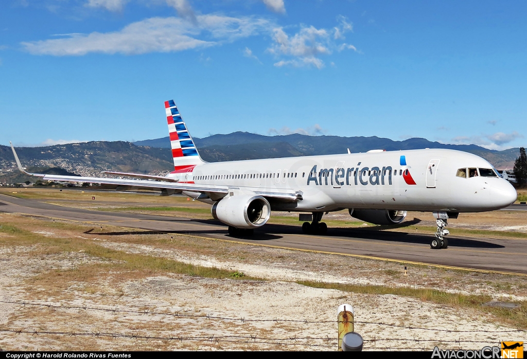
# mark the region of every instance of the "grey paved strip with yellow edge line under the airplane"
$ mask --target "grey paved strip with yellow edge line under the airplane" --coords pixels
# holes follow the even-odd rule
[[[47,204],[0,194],[0,212],[57,218],[61,220],[140,228],[154,232],[186,234],[294,250],[331,253],[430,264],[438,267],[466,268],[527,275],[527,240],[523,238],[472,238],[448,236],[446,250],[432,250],[432,235],[408,232],[328,228],[325,236],[302,234],[295,225],[267,224],[252,237],[231,237],[227,226],[213,220],[197,220],[163,215],[90,211]],[[98,226],[97,226],[98,227]],[[112,235],[103,233],[97,235]]]

